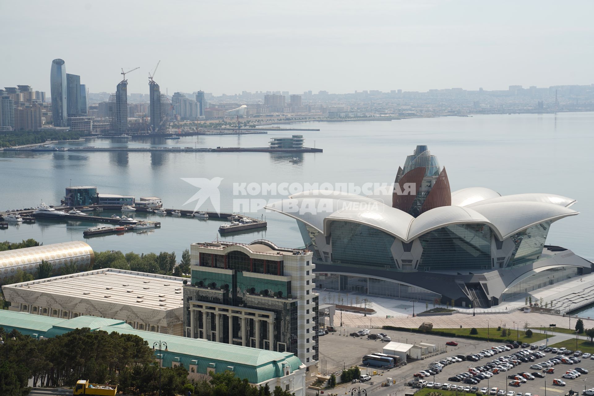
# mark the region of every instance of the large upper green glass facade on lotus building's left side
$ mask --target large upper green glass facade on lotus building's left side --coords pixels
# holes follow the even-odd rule
[[[397,268],[390,251],[393,236],[349,221],[333,221],[330,229],[333,262]]]

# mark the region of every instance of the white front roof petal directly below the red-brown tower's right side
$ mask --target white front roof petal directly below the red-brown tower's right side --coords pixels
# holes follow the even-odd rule
[[[407,239],[415,239],[431,230],[453,224],[488,224],[491,221],[470,208],[460,206],[441,206],[421,213],[410,225]],[[493,228],[493,227],[492,227]]]

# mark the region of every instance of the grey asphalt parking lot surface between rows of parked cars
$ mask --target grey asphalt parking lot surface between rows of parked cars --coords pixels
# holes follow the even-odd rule
[[[378,375],[372,376],[371,381],[374,382],[374,384],[367,386],[369,395],[379,396],[393,394],[393,392],[397,391],[414,391],[415,389],[408,387],[406,385],[406,382],[412,380],[413,374],[419,372],[419,370],[424,370],[428,368],[429,363],[442,360],[445,357],[455,356],[458,354],[466,356],[467,354],[476,353],[483,349],[491,349],[492,346],[501,345],[500,343],[466,340],[463,338],[445,338],[440,337],[438,335],[430,334],[416,334],[409,332],[385,330],[383,332],[386,332],[392,338],[392,341],[408,344],[415,344],[421,342],[431,343],[437,345],[438,349],[447,349],[447,352],[443,354],[438,354],[437,356],[428,357],[424,360],[414,360],[412,362],[409,361],[409,364],[407,364],[406,366],[397,369],[391,369],[389,371],[386,371],[385,373],[383,373],[381,369],[369,368],[369,375],[372,374],[373,370],[378,370]],[[447,341],[456,341],[458,345],[446,347],[445,343]],[[326,371],[330,373],[336,370],[340,370],[343,367],[348,368],[351,365],[361,366],[362,357],[365,354],[381,352],[381,349],[384,345],[385,343],[383,343],[380,340],[368,340],[366,337],[345,337],[339,335],[338,333],[330,333],[328,335],[320,337],[320,359],[326,359]],[[446,365],[442,372],[437,373],[435,376],[429,376],[427,378],[424,378],[424,380],[428,382],[438,382],[441,384],[448,383],[464,385],[469,387],[476,386],[479,389],[484,387],[489,389],[497,387],[499,389],[503,389],[506,392],[506,394],[507,392],[514,391],[516,393],[529,393],[532,395],[541,396],[545,394],[545,384],[547,396],[562,396],[565,395],[570,389],[573,389],[576,392],[580,392],[581,394],[584,391],[584,385],[586,389],[594,388],[594,360],[582,359],[582,357],[580,357],[582,361],[574,365],[555,365],[555,373],[552,375],[546,374],[544,378],[535,378],[533,380],[528,380],[526,383],[521,384],[520,387],[512,387],[508,385],[508,382],[511,381],[511,379],[507,378],[508,375],[517,374],[520,372],[542,372],[542,370],[530,369],[530,366],[535,363],[549,360],[551,359],[551,357],[557,356],[557,354],[550,352],[545,353],[545,357],[542,359],[536,359],[535,362],[531,363],[520,363],[520,365],[512,369],[509,369],[507,372],[500,372],[498,374],[494,374],[491,378],[482,380],[477,385],[469,385],[462,384],[462,382],[448,381],[448,378],[450,378],[451,376],[467,372],[469,370],[469,367],[485,365],[486,363],[491,362],[491,360],[497,359],[498,357],[502,356],[508,356],[511,353],[515,353],[516,351],[519,351],[521,349],[522,348],[512,349],[510,351],[495,354],[491,357],[485,357],[484,359],[479,360],[479,362],[470,362],[468,360],[465,360],[463,362],[452,363],[450,365]],[[589,374],[582,374],[576,379],[562,378],[562,375],[565,373],[566,370],[574,369],[576,367],[589,370]],[[365,374],[365,371],[365,368],[362,368],[363,374]],[[378,388],[377,384],[386,381],[386,378],[388,376],[393,378],[394,381],[396,381],[396,385],[389,388]],[[589,377],[592,378],[589,380]],[[566,386],[559,387],[553,385],[553,379],[563,379],[563,381],[566,383]]]

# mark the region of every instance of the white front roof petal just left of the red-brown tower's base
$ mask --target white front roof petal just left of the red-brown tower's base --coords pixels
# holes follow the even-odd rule
[[[325,229],[330,230],[330,223],[333,220],[352,221],[380,229],[398,239],[406,240],[410,223],[415,218],[400,209],[383,205],[377,201],[372,202],[374,204],[369,205],[366,210],[353,211],[347,208],[337,210],[324,220]]]

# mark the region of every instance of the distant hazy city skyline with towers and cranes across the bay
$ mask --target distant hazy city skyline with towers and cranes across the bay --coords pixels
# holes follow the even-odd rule
[[[162,92],[149,77],[149,93],[128,93],[126,74],[115,92],[91,93],[81,76],[53,59],[50,93],[30,85],[0,89],[0,131],[80,131],[98,134],[163,134],[201,124],[254,127],[262,122],[467,116],[473,114],[583,112],[594,110],[594,84],[507,90],[432,89],[426,92],[364,90],[353,93],[242,91],[214,96],[202,90]],[[83,78],[84,81],[84,78]],[[241,119],[241,121],[240,121]]]

